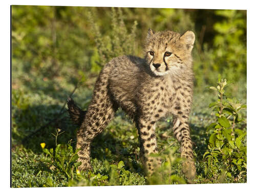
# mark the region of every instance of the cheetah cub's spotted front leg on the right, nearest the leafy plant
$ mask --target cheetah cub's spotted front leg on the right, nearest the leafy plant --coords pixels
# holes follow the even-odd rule
[[[187,120],[188,117],[186,115],[176,116],[173,121],[173,132],[181,144],[181,157],[185,158],[183,162],[183,173],[191,181],[196,176],[196,167]]]

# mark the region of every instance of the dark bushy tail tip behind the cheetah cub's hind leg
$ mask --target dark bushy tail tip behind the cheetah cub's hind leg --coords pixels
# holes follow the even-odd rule
[[[68,109],[71,120],[77,124],[81,125],[84,117],[86,116],[87,111],[82,111],[74,102],[74,100],[69,97],[67,100],[68,103]]]

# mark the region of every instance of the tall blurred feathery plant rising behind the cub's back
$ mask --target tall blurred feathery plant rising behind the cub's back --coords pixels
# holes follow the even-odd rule
[[[128,32],[121,8],[118,8],[117,11],[115,8],[111,9],[111,32],[109,35],[103,35],[100,32],[91,12],[88,13],[88,17],[95,33],[97,47],[91,58],[92,71],[99,71],[106,62],[114,57],[135,54],[137,22],[135,20],[131,32]]]

